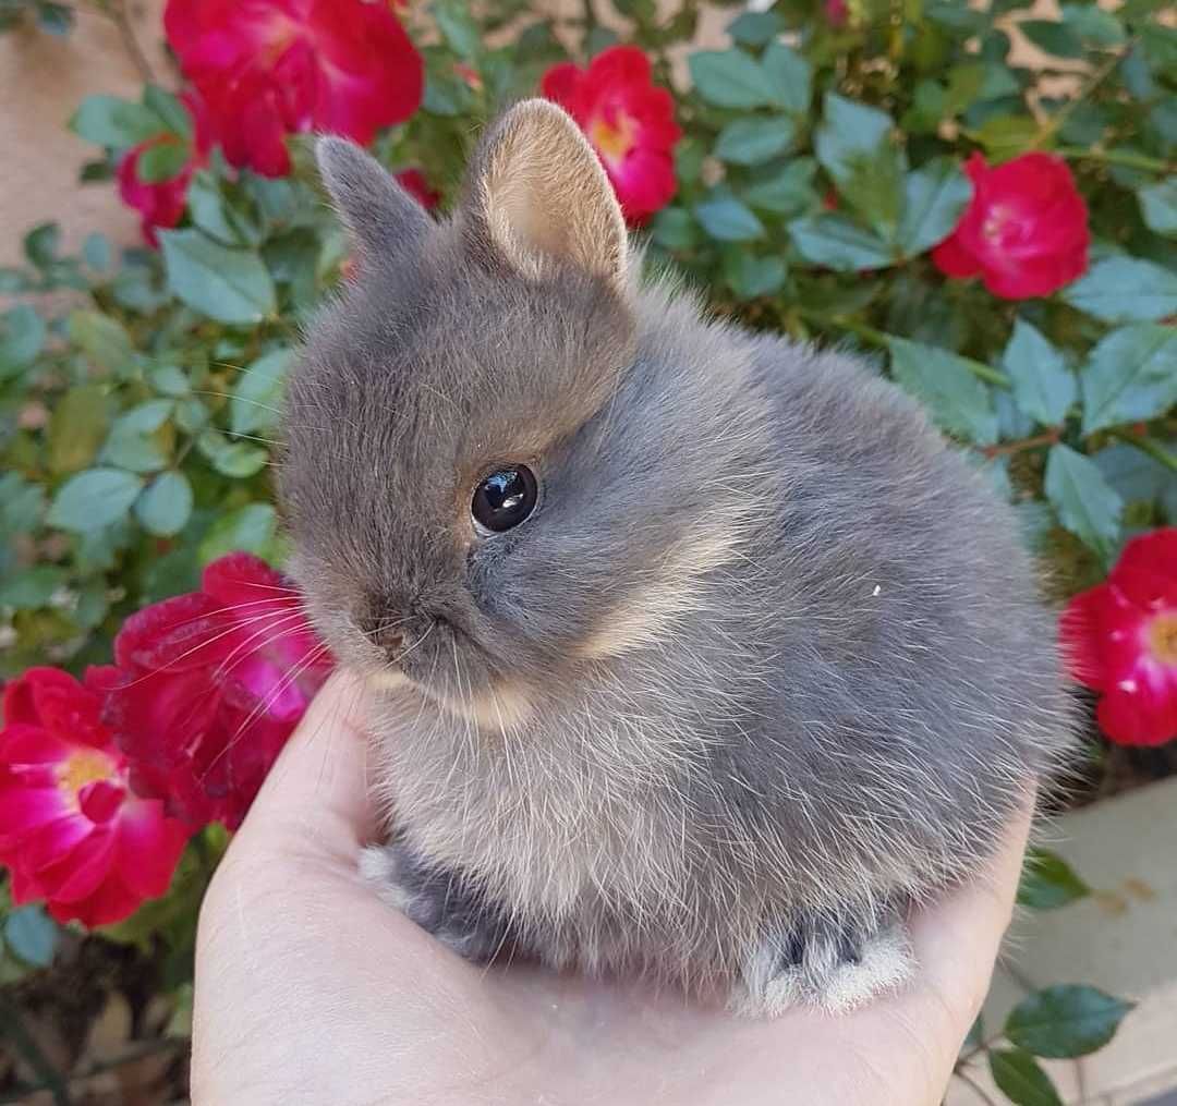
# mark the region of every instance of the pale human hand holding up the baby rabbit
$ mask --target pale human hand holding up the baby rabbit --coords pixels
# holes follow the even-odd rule
[[[919,968],[851,1014],[750,1021],[640,982],[460,959],[357,872],[373,834],[363,688],[320,692],[200,912],[197,1106],[935,1106],[1010,920],[1029,813],[911,919]]]

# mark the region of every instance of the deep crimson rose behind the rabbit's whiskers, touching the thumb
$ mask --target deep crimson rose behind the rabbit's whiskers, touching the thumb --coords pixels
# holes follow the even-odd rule
[[[135,791],[231,830],[332,667],[298,593],[248,553],[213,561],[201,591],[131,615],[114,660],[95,681]]]

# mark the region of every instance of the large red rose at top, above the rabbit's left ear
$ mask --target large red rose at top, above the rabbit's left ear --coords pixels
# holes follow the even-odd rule
[[[421,102],[420,54],[387,4],[168,0],[164,27],[225,156],[266,176],[290,172],[291,132],[366,145]]]

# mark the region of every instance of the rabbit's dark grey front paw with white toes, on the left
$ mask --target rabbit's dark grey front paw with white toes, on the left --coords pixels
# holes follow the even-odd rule
[[[490,964],[517,952],[506,918],[477,890],[454,872],[421,864],[399,842],[365,848],[360,875],[385,902],[467,960]]]

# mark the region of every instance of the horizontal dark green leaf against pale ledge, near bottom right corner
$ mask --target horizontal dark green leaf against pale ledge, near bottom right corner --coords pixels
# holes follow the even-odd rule
[[[1131,1008],[1095,987],[1046,987],[1013,1007],[1005,1035],[1036,1057],[1083,1057],[1106,1045]]]

